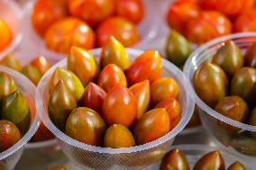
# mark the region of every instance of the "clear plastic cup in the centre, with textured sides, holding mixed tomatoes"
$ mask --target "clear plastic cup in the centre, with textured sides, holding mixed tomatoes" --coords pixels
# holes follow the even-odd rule
[[[91,52],[98,61],[101,49],[94,49]],[[133,60],[142,54],[142,51],[137,49],[127,49],[127,53]],[[182,106],[183,114],[177,127],[160,139],[132,148],[100,148],[71,139],[56,128],[50,121],[48,115],[48,101],[50,98],[48,82],[51,74],[57,67],[66,67],[66,58],[51,67],[50,70],[41,78],[41,82],[37,87],[36,104],[41,121],[57,137],[60,148],[64,153],[78,166],[97,169],[142,169],[142,167],[150,166],[159,160],[166,151],[169,151],[173,140],[178,133],[185,128],[194,109],[194,103],[189,99],[187,94],[187,80],[185,76],[183,76],[178,67],[175,67],[164,58],[162,58],[162,64],[163,76],[173,77],[179,85],[178,101]]]

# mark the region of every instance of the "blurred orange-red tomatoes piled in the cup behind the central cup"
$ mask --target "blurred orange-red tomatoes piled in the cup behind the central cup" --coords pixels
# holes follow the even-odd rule
[[[143,12],[141,0],[37,0],[32,26],[47,48],[60,53],[102,47],[110,36],[130,47],[140,40],[135,24]]]

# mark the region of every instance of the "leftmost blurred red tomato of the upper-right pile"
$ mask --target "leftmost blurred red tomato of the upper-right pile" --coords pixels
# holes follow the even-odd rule
[[[187,22],[197,17],[199,13],[199,7],[193,3],[170,4],[167,21],[171,28],[179,32],[184,32]]]

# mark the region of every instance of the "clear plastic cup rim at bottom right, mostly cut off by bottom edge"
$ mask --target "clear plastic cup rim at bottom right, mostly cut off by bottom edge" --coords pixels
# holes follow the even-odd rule
[[[240,161],[243,166],[246,167],[247,170],[254,170],[255,165],[251,164],[250,162],[247,162],[246,160],[242,159],[242,157],[238,157],[237,155],[233,155],[223,148],[219,148],[216,146],[207,146],[207,145],[198,145],[198,144],[188,144],[188,145],[174,145],[171,147],[171,149],[178,148],[184,152],[184,154],[187,157],[187,162],[190,167],[190,169],[193,168],[193,166],[196,165],[197,160],[200,157],[203,157],[205,154],[218,150],[221,152],[222,156],[224,157],[224,163],[225,167],[232,165],[235,161]],[[153,169],[159,169],[160,163],[158,165],[152,166],[151,168],[147,170],[153,170]]]

